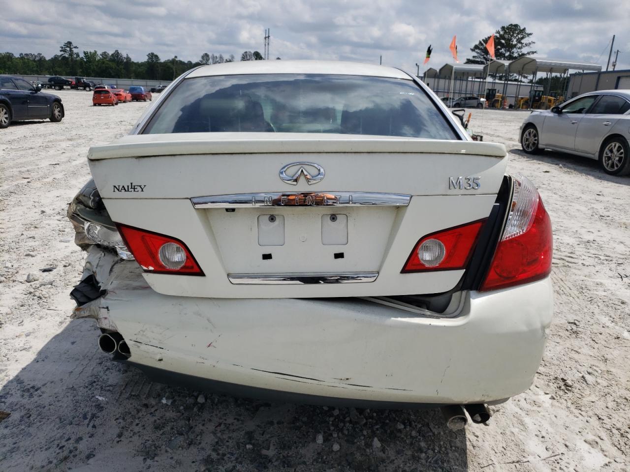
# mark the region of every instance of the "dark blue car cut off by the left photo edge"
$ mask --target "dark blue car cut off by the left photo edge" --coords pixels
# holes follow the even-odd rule
[[[61,121],[65,113],[61,99],[42,93],[41,89],[18,77],[0,76],[0,128],[6,128],[11,121]]]

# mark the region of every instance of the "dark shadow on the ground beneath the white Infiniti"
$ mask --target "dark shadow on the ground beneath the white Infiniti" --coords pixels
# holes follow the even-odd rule
[[[0,390],[3,472],[468,470],[438,410],[200,398],[112,362],[98,334],[72,321]]]

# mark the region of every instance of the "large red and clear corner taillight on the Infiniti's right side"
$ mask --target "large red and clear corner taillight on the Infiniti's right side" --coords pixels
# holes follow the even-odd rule
[[[542,199],[528,179],[517,176],[505,230],[481,291],[534,282],[551,273],[553,233]]]

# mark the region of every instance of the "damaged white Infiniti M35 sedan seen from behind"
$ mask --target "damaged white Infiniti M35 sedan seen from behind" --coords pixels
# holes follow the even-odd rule
[[[88,159],[74,316],[151,378],[476,420],[532,384],[549,216],[505,147],[473,142],[412,75],[202,66]]]

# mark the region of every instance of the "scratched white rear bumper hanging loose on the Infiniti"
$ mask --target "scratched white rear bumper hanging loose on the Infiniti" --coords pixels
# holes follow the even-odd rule
[[[553,306],[549,278],[469,293],[461,314],[444,319],[357,298],[160,295],[139,270],[129,271],[134,266],[115,265],[108,294],[76,310],[120,332],[129,362],[157,380],[244,396],[306,395],[306,403],[487,403],[517,395],[539,367]]]

